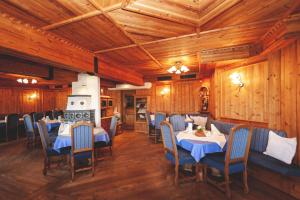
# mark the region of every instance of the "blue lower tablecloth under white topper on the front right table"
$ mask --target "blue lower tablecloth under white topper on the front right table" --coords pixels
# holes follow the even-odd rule
[[[176,135],[176,133],[175,133]],[[206,154],[222,152],[222,148],[215,142],[196,141],[196,140],[181,140],[177,141],[178,146],[191,152],[191,156],[199,162]]]

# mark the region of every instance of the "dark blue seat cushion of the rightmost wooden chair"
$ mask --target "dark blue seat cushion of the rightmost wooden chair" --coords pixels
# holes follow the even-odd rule
[[[208,165],[209,167],[216,168],[224,173],[225,152],[207,154],[200,162]],[[244,170],[245,170],[245,166],[243,162],[229,165],[229,174],[243,172]]]

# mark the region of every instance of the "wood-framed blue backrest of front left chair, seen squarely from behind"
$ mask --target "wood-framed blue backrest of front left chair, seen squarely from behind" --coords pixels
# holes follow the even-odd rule
[[[93,149],[94,128],[90,123],[78,122],[71,127],[72,151]]]

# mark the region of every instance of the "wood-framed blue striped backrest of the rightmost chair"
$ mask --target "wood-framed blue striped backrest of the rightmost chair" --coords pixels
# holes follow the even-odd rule
[[[246,125],[238,125],[231,129],[227,154],[230,161],[245,160],[248,158],[252,128]],[[226,158],[228,158],[226,154]]]

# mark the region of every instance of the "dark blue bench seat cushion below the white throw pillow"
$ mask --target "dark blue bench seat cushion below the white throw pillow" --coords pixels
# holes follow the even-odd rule
[[[300,167],[288,165],[260,152],[251,151],[248,160],[251,163],[287,176],[300,176]]]

